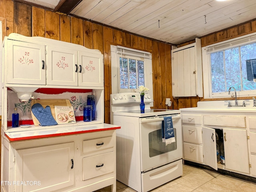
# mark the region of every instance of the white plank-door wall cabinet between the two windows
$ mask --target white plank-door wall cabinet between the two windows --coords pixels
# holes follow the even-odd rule
[[[173,49],[172,96],[203,96],[201,41]]]

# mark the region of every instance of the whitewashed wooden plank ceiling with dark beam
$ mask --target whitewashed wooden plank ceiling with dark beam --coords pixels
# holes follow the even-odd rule
[[[256,19],[256,0],[14,0],[180,44]]]

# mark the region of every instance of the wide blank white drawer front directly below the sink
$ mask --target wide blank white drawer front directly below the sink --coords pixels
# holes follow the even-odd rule
[[[246,128],[244,116],[204,115],[204,125]]]

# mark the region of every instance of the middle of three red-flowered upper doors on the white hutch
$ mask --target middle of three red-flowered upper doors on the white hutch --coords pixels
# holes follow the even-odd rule
[[[47,85],[78,86],[77,50],[47,48]]]

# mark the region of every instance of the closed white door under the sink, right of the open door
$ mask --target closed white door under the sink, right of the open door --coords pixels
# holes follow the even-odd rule
[[[246,130],[223,129],[226,169],[250,173]]]

